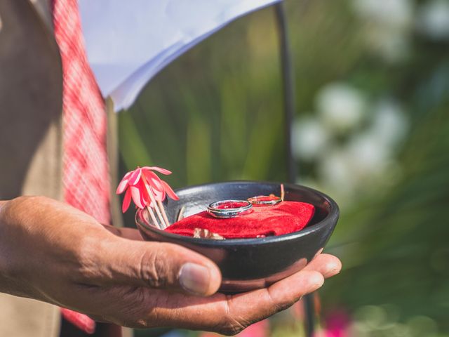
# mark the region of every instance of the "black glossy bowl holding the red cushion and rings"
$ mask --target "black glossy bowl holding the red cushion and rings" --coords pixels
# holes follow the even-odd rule
[[[172,242],[207,256],[222,272],[222,292],[240,292],[269,286],[293,275],[323,251],[337,224],[339,211],[326,194],[293,184],[284,184],[285,200],[303,201],[316,208],[314,217],[303,230],[260,239],[195,239],[159,230],[149,221],[146,209],[136,213],[142,236],[150,241]],[[180,210],[190,216],[205,211],[208,204],[224,199],[247,199],[256,195],[280,195],[279,183],[235,181],[182,188],[180,200],[168,200],[166,211],[174,223]]]

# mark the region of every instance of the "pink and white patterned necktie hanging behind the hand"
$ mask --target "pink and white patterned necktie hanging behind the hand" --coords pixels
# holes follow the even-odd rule
[[[65,201],[109,223],[107,116],[84,50],[77,0],[53,0],[53,23],[62,58]],[[86,333],[95,331],[86,315],[65,308],[62,315]]]

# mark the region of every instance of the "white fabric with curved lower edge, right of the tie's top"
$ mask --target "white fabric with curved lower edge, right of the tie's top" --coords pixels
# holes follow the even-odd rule
[[[280,0],[79,0],[102,95],[126,109],[166,65],[232,20]]]

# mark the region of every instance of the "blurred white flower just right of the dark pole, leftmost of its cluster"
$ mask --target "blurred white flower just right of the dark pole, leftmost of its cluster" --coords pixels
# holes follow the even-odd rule
[[[297,119],[293,124],[292,150],[296,158],[311,161],[325,150],[328,132],[318,120]]]

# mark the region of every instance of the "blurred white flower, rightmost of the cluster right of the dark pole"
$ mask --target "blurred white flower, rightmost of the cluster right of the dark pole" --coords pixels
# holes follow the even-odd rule
[[[367,133],[376,139],[379,146],[394,151],[405,138],[408,126],[406,114],[398,103],[384,99],[375,106]]]

